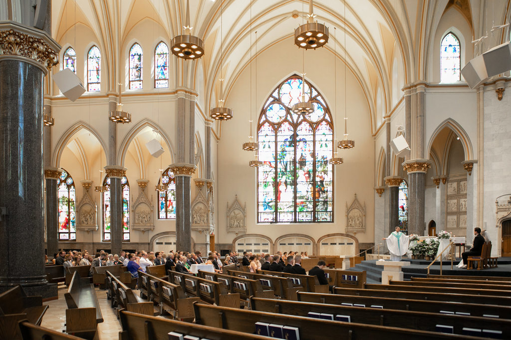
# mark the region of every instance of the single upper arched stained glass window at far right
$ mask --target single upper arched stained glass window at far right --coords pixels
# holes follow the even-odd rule
[[[440,82],[455,83],[461,79],[459,39],[449,32],[440,44]]]

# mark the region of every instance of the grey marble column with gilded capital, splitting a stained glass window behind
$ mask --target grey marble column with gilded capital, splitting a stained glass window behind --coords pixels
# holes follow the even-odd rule
[[[110,247],[112,254],[121,253],[123,246],[123,189],[121,180],[126,176],[126,168],[105,167],[110,178]]]

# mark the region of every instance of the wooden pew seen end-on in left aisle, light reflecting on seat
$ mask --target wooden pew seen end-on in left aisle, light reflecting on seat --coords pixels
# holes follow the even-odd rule
[[[82,280],[78,272],[74,272],[64,297],[67,304],[66,332],[94,338],[98,323],[103,322],[94,285],[88,279]]]

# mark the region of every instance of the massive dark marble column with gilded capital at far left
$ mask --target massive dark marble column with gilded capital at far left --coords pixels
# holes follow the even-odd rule
[[[0,23],[0,290],[51,297],[44,265],[43,77],[60,46],[47,33]],[[27,261],[19,254],[31,254]]]

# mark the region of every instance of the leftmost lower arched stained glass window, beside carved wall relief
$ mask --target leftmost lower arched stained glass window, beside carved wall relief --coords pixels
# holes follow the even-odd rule
[[[76,188],[73,177],[63,171],[57,181],[59,240],[76,241]]]

